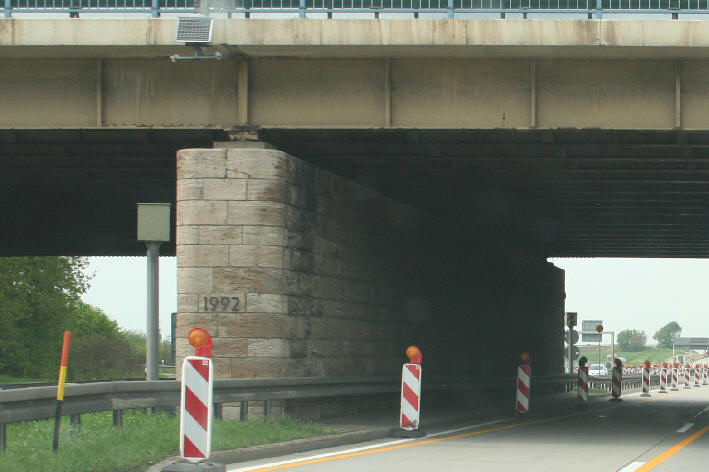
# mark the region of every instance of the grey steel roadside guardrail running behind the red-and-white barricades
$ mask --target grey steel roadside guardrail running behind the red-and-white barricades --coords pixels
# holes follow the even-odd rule
[[[656,377],[653,377],[655,379]],[[592,377],[590,384],[610,389],[610,377]],[[626,376],[623,388],[639,388],[640,376]],[[424,392],[454,390],[502,390],[515,387],[510,377],[460,379],[427,377]],[[246,419],[248,403],[262,401],[265,416],[270,417],[271,401],[318,399],[327,397],[372,394],[398,394],[401,379],[396,377],[306,377],[280,379],[215,380],[213,402],[215,416],[221,417],[221,405],[239,402],[241,419]],[[600,387],[599,387],[600,388]],[[559,374],[535,376],[532,391],[573,391],[576,375]],[[176,408],[180,404],[180,382],[118,381],[92,384],[67,384],[64,392],[64,414],[73,424],[79,424],[79,415],[102,411],[113,412],[113,425],[123,423],[123,411],[138,408]],[[5,448],[7,424],[53,418],[56,407],[56,386],[28,387],[0,391],[0,450]]]

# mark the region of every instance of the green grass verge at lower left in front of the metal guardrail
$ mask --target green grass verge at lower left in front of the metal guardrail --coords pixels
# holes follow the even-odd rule
[[[150,463],[179,454],[179,418],[126,411],[123,428],[112,426],[111,412],[81,416],[73,437],[65,417],[59,451],[52,452],[54,420],[8,425],[2,472],[137,472]],[[212,450],[307,438],[326,431],[318,424],[282,417],[272,421],[214,421]]]

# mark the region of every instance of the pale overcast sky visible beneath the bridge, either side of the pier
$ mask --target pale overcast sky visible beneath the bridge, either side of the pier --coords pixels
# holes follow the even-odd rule
[[[95,273],[84,301],[98,306],[123,329],[146,329],[144,257],[92,257]],[[709,260],[551,259],[566,271],[566,311],[582,320],[602,320],[606,330],[652,335],[677,321],[683,336],[709,337]],[[160,330],[170,335],[176,307],[176,260],[160,258]],[[580,329],[580,328],[579,328]],[[609,342],[609,340],[604,340]]]

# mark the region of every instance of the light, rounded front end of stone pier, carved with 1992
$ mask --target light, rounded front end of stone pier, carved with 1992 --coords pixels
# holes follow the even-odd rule
[[[214,339],[216,378],[294,377],[307,327],[288,313],[290,156],[271,149],[177,154],[177,362],[190,329]]]

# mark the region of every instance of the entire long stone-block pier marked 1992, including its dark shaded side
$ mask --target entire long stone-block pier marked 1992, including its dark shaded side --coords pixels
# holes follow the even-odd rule
[[[201,326],[217,378],[396,376],[409,344],[429,375],[513,375],[521,351],[562,365],[563,271],[543,257],[226,145],[177,155],[178,363]]]

